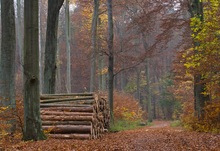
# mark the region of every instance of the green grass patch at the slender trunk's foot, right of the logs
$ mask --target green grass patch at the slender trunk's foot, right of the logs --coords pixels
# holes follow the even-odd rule
[[[136,128],[141,127],[139,123],[140,123],[139,121],[130,122],[126,120],[118,120],[118,121],[115,121],[114,124],[111,124],[110,131],[118,132],[118,131],[136,129]]]

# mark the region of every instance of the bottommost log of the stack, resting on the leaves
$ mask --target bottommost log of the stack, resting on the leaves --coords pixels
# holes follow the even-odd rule
[[[48,134],[48,136],[56,139],[91,139],[90,134]]]

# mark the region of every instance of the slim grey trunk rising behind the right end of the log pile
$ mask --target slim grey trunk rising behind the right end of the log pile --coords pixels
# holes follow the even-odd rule
[[[91,55],[90,92],[95,91],[98,17],[99,17],[99,0],[94,0],[94,11],[92,17],[92,55]]]

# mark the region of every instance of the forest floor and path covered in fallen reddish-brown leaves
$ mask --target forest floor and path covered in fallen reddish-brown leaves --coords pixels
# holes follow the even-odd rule
[[[220,151],[220,135],[190,132],[155,121],[153,126],[107,133],[97,140],[20,142],[7,151]]]

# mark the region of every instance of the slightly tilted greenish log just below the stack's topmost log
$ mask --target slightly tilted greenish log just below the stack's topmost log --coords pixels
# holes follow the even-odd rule
[[[75,97],[75,98],[57,98],[57,99],[40,100],[40,103],[57,103],[57,102],[70,102],[70,101],[93,100],[93,99],[94,99],[93,96]]]

